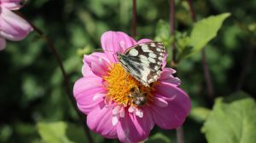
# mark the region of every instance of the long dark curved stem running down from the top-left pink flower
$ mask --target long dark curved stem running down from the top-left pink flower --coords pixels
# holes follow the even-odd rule
[[[64,84],[65,84],[65,87],[66,87],[65,89],[66,89],[68,98],[71,100],[72,106],[75,109],[75,111],[77,112],[77,114],[79,116],[79,119],[80,119],[80,122],[84,125],[84,128],[83,128],[84,129],[84,134],[87,136],[89,142],[93,143],[94,141],[92,140],[92,137],[90,135],[90,131],[89,131],[89,129],[87,128],[87,126],[85,124],[86,122],[84,122],[84,120],[85,120],[84,115],[82,115],[81,112],[79,112],[79,108],[76,104],[76,101],[74,100],[73,94],[71,93],[71,90],[70,90],[70,87],[69,87],[69,80],[68,80],[68,77],[67,77],[67,72],[65,71],[64,66],[62,64],[60,54],[55,49],[54,43],[52,43],[52,41],[49,39],[49,37],[45,36],[45,34],[42,30],[40,30],[37,26],[35,26],[31,21],[27,20],[26,17],[23,14],[21,14],[18,11],[15,11],[15,13],[19,14],[23,19],[25,19],[32,26],[34,31],[36,31],[38,33],[38,35],[44,39],[44,41],[48,44],[48,47],[51,50],[51,52],[55,55],[58,66],[61,69],[61,74],[62,74],[62,77],[64,79]]]

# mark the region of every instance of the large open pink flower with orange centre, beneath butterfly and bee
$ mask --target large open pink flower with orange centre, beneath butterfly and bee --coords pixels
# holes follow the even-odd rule
[[[175,71],[163,61],[163,72],[157,82],[141,88],[147,93],[147,103],[137,106],[127,96],[131,88],[142,86],[120,66],[116,52],[124,53],[136,42],[120,31],[102,35],[104,53],[84,55],[81,77],[73,88],[79,109],[87,116],[91,130],[121,142],[146,140],[156,124],[162,129],[176,129],[183,124],[191,108],[189,96],[178,88],[180,80]]]

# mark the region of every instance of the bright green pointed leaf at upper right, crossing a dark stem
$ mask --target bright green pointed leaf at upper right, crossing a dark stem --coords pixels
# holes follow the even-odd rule
[[[190,44],[194,47],[193,51],[200,51],[213,37],[216,37],[219,28],[229,16],[229,13],[218,14],[196,22],[190,35]]]

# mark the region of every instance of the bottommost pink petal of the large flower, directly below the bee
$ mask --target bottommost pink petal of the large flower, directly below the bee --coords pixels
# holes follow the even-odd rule
[[[143,118],[125,111],[125,117],[119,118],[117,133],[121,142],[139,142],[148,138],[153,127],[154,122],[147,109],[143,109]]]

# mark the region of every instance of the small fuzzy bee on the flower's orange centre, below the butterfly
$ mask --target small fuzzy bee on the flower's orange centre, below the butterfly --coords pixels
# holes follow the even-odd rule
[[[147,103],[147,93],[142,93],[139,88],[131,88],[128,97],[137,106],[144,106]]]

